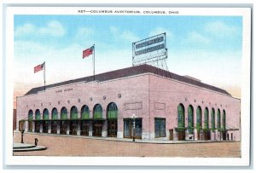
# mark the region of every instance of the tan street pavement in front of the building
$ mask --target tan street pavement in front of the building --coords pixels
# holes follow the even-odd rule
[[[26,133],[24,142],[47,147],[44,151],[14,152],[26,156],[88,156],[88,157],[185,157],[185,158],[240,158],[240,141],[148,143],[131,139],[104,140],[99,137],[55,136]],[[14,133],[14,142],[20,142],[20,133]]]

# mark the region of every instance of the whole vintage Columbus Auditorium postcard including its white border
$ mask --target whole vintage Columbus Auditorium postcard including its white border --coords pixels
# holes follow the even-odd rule
[[[5,33],[7,164],[249,164],[250,8],[7,7]]]

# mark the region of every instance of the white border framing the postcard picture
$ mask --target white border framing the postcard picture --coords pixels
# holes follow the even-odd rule
[[[241,85],[241,158],[137,158],[137,157],[35,157],[13,156],[12,133],[6,134],[5,163],[9,165],[218,165],[245,166],[250,157],[250,60],[251,60],[251,9],[249,8],[109,8],[109,7],[7,7],[6,16],[6,109],[13,114],[14,74],[14,15],[15,14],[79,14],[78,10],[136,9],[178,11],[171,15],[241,15],[242,28],[242,85]],[[91,15],[106,15],[92,13]],[[84,15],[84,14],[80,14]],[[113,15],[113,14],[111,14]],[[119,15],[119,14],[115,14]],[[133,15],[133,14],[125,14]],[[137,15],[137,14],[134,14]],[[142,14],[144,15],[144,14]],[[145,14],[147,15],[147,14]],[[161,15],[161,14],[158,14]],[[166,14],[165,14],[166,15]],[[6,131],[12,131],[12,116],[6,117]],[[99,159],[101,162],[99,162]]]

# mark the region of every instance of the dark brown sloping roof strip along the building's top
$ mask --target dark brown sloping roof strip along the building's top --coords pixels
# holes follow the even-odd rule
[[[222,93],[224,95],[230,95],[230,93],[228,93],[224,89],[219,89],[219,88],[214,87],[212,85],[201,83],[199,80],[195,80],[193,78],[187,78],[185,76],[180,76],[180,75],[177,75],[175,73],[168,72],[166,70],[157,68],[155,66],[149,66],[147,64],[143,64],[143,65],[139,65],[139,66],[131,66],[131,67],[127,67],[127,68],[123,68],[123,69],[119,69],[119,70],[115,70],[115,71],[111,71],[111,72],[104,72],[104,73],[101,73],[101,74],[96,74],[95,75],[95,80],[99,81],[99,82],[102,82],[102,81],[108,81],[108,80],[112,80],[112,79],[116,79],[116,78],[131,77],[131,76],[135,76],[135,75],[143,74],[143,73],[148,73],[148,72],[149,73],[154,73],[154,74],[159,75],[161,77],[172,78],[172,79],[175,79],[175,80],[183,82],[183,83],[193,84],[193,85],[199,86],[201,88],[217,91],[217,92]],[[50,88],[53,88],[53,87],[66,85],[66,84],[74,84],[74,83],[79,83],[79,82],[92,82],[92,81],[94,81],[93,76],[84,77],[84,78],[76,78],[76,79],[68,80],[68,81],[61,82],[61,83],[46,85],[45,89],[50,89]],[[26,95],[37,94],[38,91],[42,91],[42,90],[44,90],[44,86],[33,88],[33,89],[29,90],[26,93]]]

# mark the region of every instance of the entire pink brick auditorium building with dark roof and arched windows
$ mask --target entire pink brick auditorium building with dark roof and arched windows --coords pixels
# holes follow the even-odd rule
[[[31,133],[241,139],[239,99],[196,78],[145,64],[31,89],[17,97],[17,124],[22,119]]]

